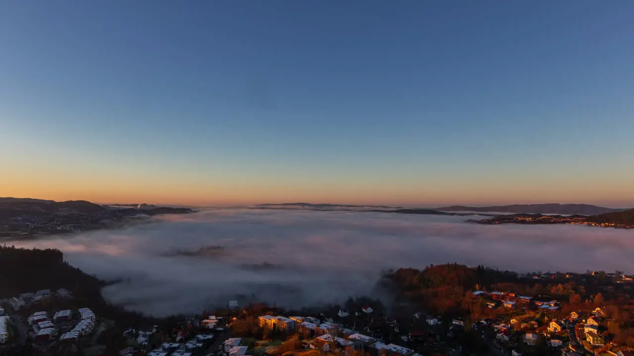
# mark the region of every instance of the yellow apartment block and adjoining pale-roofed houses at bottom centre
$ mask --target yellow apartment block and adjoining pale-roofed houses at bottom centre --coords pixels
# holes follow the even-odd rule
[[[364,310],[364,312],[366,312]],[[372,312],[371,310],[369,312]],[[367,312],[366,312],[367,313]],[[403,356],[420,356],[409,348],[395,345],[393,343],[384,344],[381,341],[367,336],[352,329],[347,329],[332,320],[321,322],[314,317],[283,317],[273,315],[262,315],[258,319],[259,325],[268,329],[275,329],[286,333],[301,333],[304,338],[312,339],[307,343],[307,347],[332,351],[332,345],[336,345],[350,353],[352,350],[389,350]],[[246,352],[246,349],[235,352]],[[240,356],[244,353],[229,353],[231,356]]]

